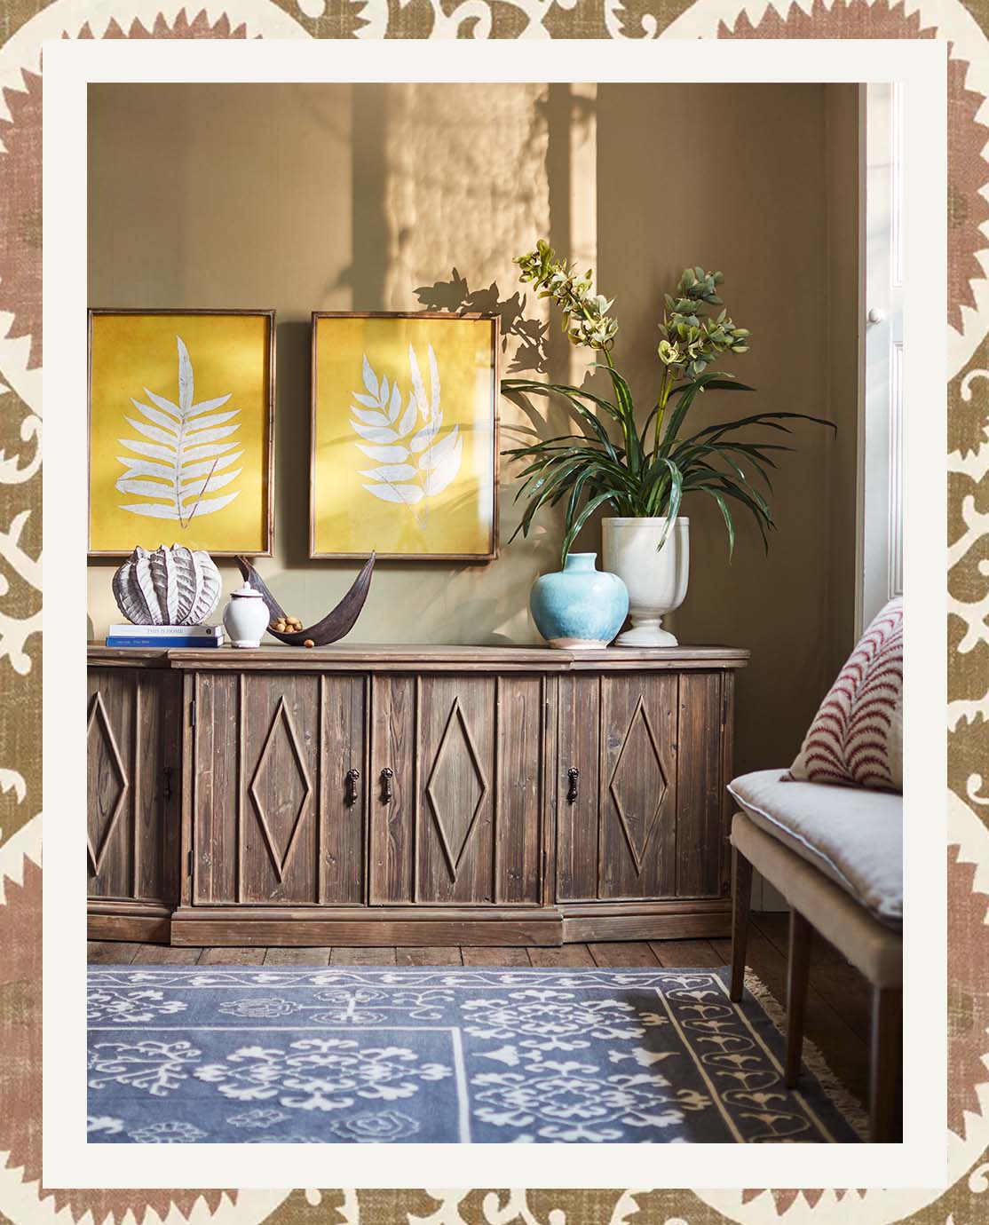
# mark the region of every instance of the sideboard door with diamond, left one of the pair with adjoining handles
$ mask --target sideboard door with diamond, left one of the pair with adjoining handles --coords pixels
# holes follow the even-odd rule
[[[194,903],[362,903],[364,681],[217,673],[195,699]]]

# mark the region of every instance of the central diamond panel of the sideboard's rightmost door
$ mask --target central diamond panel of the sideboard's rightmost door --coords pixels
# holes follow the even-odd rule
[[[675,674],[601,685],[598,897],[676,895]]]

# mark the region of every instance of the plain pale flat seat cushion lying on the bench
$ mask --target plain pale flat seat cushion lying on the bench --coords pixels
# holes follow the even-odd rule
[[[755,826],[830,877],[880,922],[902,926],[903,797],[803,783],[786,773],[755,771],[733,779],[728,790]],[[786,895],[778,881],[771,883]]]

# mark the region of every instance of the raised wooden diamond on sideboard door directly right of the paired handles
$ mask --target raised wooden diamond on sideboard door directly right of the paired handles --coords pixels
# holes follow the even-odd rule
[[[464,762],[467,769],[463,768]],[[484,777],[460,698],[455,698],[450,708],[425,794],[440,835],[450,878],[456,880],[460,861],[471,840],[484,796],[488,794],[488,779]]]

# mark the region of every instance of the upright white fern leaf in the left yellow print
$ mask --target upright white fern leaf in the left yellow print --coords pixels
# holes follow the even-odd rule
[[[221,497],[207,495],[237,480],[243,469],[230,469],[230,464],[244,452],[238,451],[238,442],[232,440],[232,435],[240,429],[240,423],[234,423],[240,409],[217,412],[230,393],[195,403],[192,359],[183,338],[176,336],[175,341],[179,356],[178,403],[148,387],[143,391],[150,403],[131,397],[131,404],[143,420],[137,417],[125,420],[141,437],[118,440],[134,454],[116,457],[118,463],[124,466],[123,474],[116,479],[116,490],[132,497],[150,499],[121,505],[121,511],[146,518],[173,519],[185,528],[195,516],[216,514],[240,496],[240,490]]]

